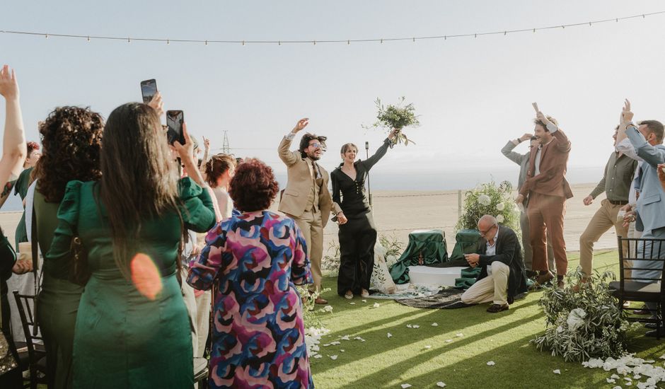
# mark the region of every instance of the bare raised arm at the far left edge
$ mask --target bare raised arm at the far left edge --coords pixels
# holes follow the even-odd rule
[[[4,65],[0,70],[0,95],[5,98],[6,118],[0,159],[0,185],[4,187],[13,177],[18,177],[28,154],[23,132],[23,117],[19,103],[16,74]]]

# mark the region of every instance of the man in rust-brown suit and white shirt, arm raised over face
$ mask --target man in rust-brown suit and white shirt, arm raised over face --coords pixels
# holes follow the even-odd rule
[[[562,288],[563,276],[568,267],[566,243],[563,239],[563,215],[566,211],[565,201],[572,197],[566,180],[570,141],[553,117],[546,117],[543,112],[538,111],[534,123],[539,145],[531,149],[526,181],[519,190],[516,202],[521,204],[528,196],[527,214],[533,249],[533,270],[539,273],[536,284],[542,285],[554,278],[547,265],[545,231],[549,231],[554,246],[557,284]]]

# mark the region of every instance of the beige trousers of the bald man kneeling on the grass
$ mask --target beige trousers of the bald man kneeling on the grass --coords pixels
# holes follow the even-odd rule
[[[508,274],[510,267],[503,262],[495,261],[487,267],[487,277],[475,281],[464,294],[465,304],[480,304],[492,301],[500,306],[508,303]]]

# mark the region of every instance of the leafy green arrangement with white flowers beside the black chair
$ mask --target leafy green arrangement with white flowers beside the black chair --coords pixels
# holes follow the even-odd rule
[[[577,284],[581,273],[567,277]],[[628,321],[611,295],[608,282],[613,272],[592,277],[577,292],[552,286],[538,305],[545,312],[545,334],[531,340],[540,351],[563,356],[565,361],[586,361],[591,357],[618,358],[626,352]],[[572,282],[571,282],[572,281]]]

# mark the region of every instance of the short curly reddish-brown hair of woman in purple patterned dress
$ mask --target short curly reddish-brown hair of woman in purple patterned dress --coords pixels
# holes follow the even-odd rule
[[[233,206],[243,212],[267,209],[277,192],[279,184],[272,168],[258,159],[245,159],[238,165],[229,189]]]

